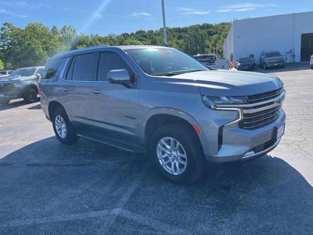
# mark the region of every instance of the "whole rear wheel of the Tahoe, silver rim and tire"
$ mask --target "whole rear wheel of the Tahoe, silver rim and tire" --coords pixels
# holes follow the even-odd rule
[[[52,125],[54,133],[60,142],[75,143],[79,139],[63,108],[58,108],[54,111]]]

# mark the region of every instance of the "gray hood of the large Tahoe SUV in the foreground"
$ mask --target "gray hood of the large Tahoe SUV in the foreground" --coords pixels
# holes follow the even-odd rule
[[[198,71],[158,77],[158,81],[199,86],[202,95],[251,95],[273,91],[283,86],[276,76],[242,71]]]

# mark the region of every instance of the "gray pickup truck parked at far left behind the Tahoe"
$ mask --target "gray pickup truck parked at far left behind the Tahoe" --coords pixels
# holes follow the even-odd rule
[[[8,77],[0,77],[0,104],[8,104],[12,99],[23,98],[28,103],[36,102],[39,94],[38,81],[44,67],[18,69]]]

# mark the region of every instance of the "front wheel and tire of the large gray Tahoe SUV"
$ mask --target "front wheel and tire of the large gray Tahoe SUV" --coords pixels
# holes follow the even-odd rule
[[[159,127],[150,141],[150,155],[156,168],[174,183],[191,183],[206,169],[199,138],[186,124]]]

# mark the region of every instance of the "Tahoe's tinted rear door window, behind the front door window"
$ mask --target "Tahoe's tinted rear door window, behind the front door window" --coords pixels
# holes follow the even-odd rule
[[[94,54],[77,55],[74,62],[72,80],[91,81],[94,58]]]

